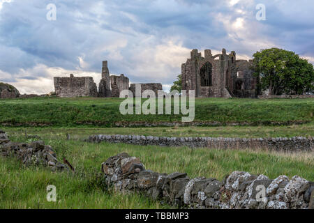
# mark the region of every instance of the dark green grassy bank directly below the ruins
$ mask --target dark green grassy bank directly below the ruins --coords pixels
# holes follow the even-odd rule
[[[91,125],[113,127],[116,122],[173,122],[181,115],[122,115],[119,98],[31,98],[0,100],[3,125]],[[144,102],[144,100],[143,100]],[[195,120],[269,125],[313,121],[314,99],[197,98]],[[173,112],[172,112],[173,113]]]

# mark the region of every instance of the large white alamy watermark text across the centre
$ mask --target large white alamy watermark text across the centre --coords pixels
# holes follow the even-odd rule
[[[135,97],[134,97],[135,96]],[[127,97],[127,98],[126,98]],[[172,91],[165,93],[158,90],[157,99],[156,93],[151,90],[146,90],[142,93],[141,84],[135,84],[135,95],[130,90],[120,92],[120,98],[126,98],[120,104],[120,113],[126,114],[177,114],[180,112],[184,115],[181,118],[182,122],[191,122],[195,118],[195,91],[182,90]],[[135,98],[135,111],[134,111],[134,98]],[[142,104],[142,98],[148,98]],[[173,98],[173,111],[172,111],[172,98]],[[187,107],[188,98],[188,107]],[[158,109],[156,111],[156,102]],[[165,102],[165,103],[164,103]],[[165,107],[164,107],[165,105]]]

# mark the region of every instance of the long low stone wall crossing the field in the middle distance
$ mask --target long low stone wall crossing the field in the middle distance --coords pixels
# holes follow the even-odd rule
[[[192,148],[267,148],[275,151],[313,151],[314,137],[278,138],[214,138],[214,137],[152,137],[140,135],[92,135],[90,142],[107,141],[134,145],[189,146]]]

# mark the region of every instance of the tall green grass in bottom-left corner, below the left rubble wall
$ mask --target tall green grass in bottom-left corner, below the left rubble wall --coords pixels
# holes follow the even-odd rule
[[[107,190],[101,180],[92,171],[75,175],[52,173],[43,167],[22,167],[17,160],[0,157],[0,208],[170,208],[142,194]],[[47,201],[47,185],[56,186],[57,202]]]

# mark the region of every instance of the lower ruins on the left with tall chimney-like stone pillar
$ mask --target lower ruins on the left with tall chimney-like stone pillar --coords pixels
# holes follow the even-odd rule
[[[74,98],[74,97],[118,97],[120,92],[128,90],[135,92],[135,86],[129,86],[129,79],[123,74],[120,76],[111,75],[108,69],[107,61],[103,61],[101,79],[98,86],[94,83],[93,77],[54,77],[54,91],[57,97]],[[163,86],[160,83],[141,84],[142,91],[152,90],[156,93],[162,90]],[[134,94],[135,95],[135,94]]]

